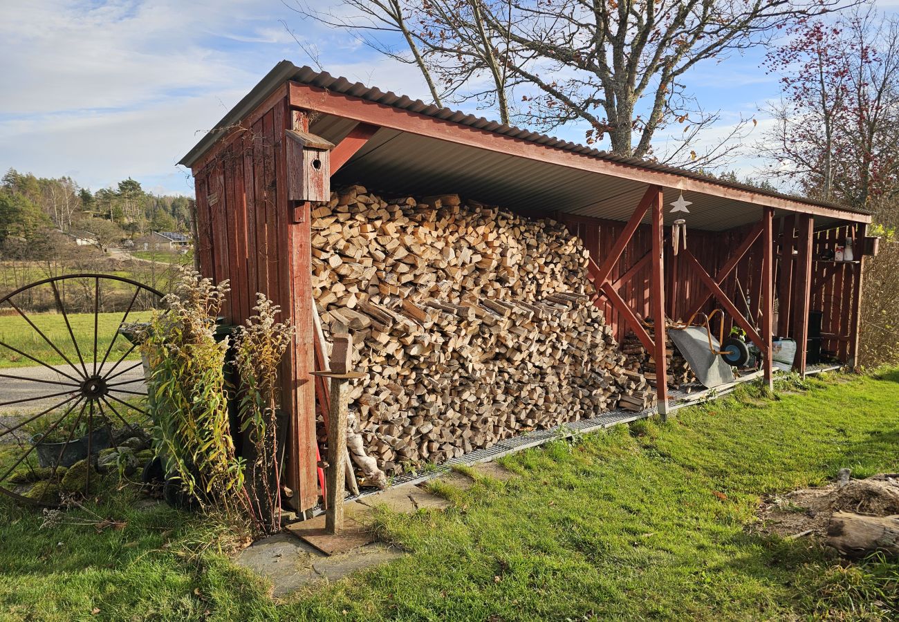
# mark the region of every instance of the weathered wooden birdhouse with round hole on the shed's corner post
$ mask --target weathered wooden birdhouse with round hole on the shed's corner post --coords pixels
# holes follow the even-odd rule
[[[334,144],[298,129],[288,129],[287,138],[288,200],[330,200]]]

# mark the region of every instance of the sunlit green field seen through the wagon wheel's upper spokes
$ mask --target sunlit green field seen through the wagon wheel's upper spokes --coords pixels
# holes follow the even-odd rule
[[[129,322],[147,320],[152,312],[134,312],[128,316]],[[99,358],[109,347],[124,312],[102,313],[97,318],[97,351]],[[50,342],[65,354],[69,360],[79,365],[78,353],[75,343],[68,333],[63,315],[56,313],[33,314],[29,318],[37,325],[41,332],[47,335]],[[69,323],[72,333],[75,335],[78,350],[85,360],[93,360],[93,314],[69,314]],[[42,360],[49,365],[62,365],[66,360],[58,354],[53,347],[35,331],[21,315],[0,315],[0,342],[13,346],[19,351],[31,355],[35,359]],[[110,360],[118,360],[126,351],[130,343],[123,337],[115,341],[110,353]],[[137,351],[132,351],[129,358],[138,359]],[[35,366],[38,363],[28,359],[3,345],[0,345],[0,368]]]

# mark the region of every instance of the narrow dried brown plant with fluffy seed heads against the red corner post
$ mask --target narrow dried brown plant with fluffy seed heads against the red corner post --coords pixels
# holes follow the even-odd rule
[[[270,534],[280,530],[280,462],[277,435],[278,365],[293,330],[275,322],[280,307],[257,294],[257,315],[238,326],[235,365],[240,378],[241,432],[248,442],[247,495],[254,529]]]

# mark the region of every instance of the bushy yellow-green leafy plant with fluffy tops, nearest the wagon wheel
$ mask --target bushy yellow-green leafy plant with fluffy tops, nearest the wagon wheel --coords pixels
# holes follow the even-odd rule
[[[228,422],[227,339],[215,338],[227,291],[227,281],[215,285],[184,271],[164,298],[167,313],[143,328],[140,348],[150,369],[154,449],[165,472],[201,506],[214,502],[236,516],[246,505],[244,462],[236,457]]]

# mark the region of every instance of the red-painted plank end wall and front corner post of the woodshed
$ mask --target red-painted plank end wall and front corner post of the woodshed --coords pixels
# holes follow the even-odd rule
[[[286,94],[286,93],[285,93]],[[224,309],[229,324],[254,315],[256,292],[281,307],[282,319],[297,327],[294,348],[281,369],[281,407],[291,430],[285,479],[294,491],[291,505],[316,505],[314,369],[308,253],[294,253],[302,225],[290,218],[284,132],[291,123],[286,97],[263,103],[240,127],[220,139],[194,170],[197,194],[197,253],[200,271],[218,281],[230,280]],[[305,225],[308,229],[308,222]],[[299,238],[298,238],[299,239]],[[308,251],[308,244],[299,248]],[[305,274],[305,280],[304,275]],[[298,304],[298,297],[304,300]],[[301,316],[300,316],[301,315]],[[310,433],[311,430],[311,433]]]

